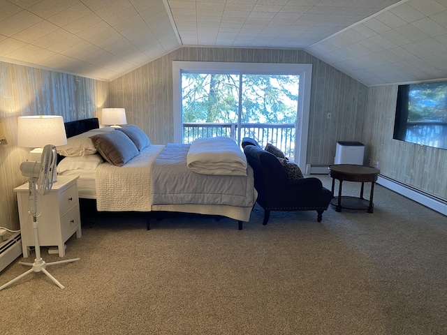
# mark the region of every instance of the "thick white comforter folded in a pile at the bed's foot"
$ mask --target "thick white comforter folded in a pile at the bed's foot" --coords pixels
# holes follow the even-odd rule
[[[186,165],[200,174],[247,176],[247,158],[230,137],[195,140],[186,156]]]

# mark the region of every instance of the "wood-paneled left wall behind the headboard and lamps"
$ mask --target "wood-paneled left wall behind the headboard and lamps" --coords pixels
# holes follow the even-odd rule
[[[27,181],[19,166],[29,158],[29,149],[17,147],[17,117],[54,114],[64,121],[94,117],[108,103],[108,84],[0,61],[0,122],[8,141],[0,147],[0,226],[19,229],[13,188]]]

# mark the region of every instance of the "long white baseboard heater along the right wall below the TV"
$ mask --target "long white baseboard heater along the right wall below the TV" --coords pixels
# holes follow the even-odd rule
[[[432,195],[416,190],[416,188],[412,188],[399,181],[381,175],[379,175],[379,179],[377,179],[377,184],[389,188],[391,191],[404,195],[406,198],[419,202],[420,204],[447,216],[447,201],[435,198]]]

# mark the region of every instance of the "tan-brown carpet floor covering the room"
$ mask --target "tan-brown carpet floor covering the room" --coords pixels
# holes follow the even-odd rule
[[[243,230],[171,214],[148,231],[104,214],[67,241],[64,259],[80,261],[47,267],[64,290],[33,273],[0,291],[1,334],[447,334],[446,216],[380,185],[374,204],[330,205],[321,223],[274,211],[265,226],[256,205]]]

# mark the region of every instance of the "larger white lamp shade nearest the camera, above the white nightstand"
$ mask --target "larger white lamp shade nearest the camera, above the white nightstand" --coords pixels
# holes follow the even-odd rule
[[[67,144],[64,118],[59,115],[19,117],[17,133],[19,147],[37,148],[47,144]]]

